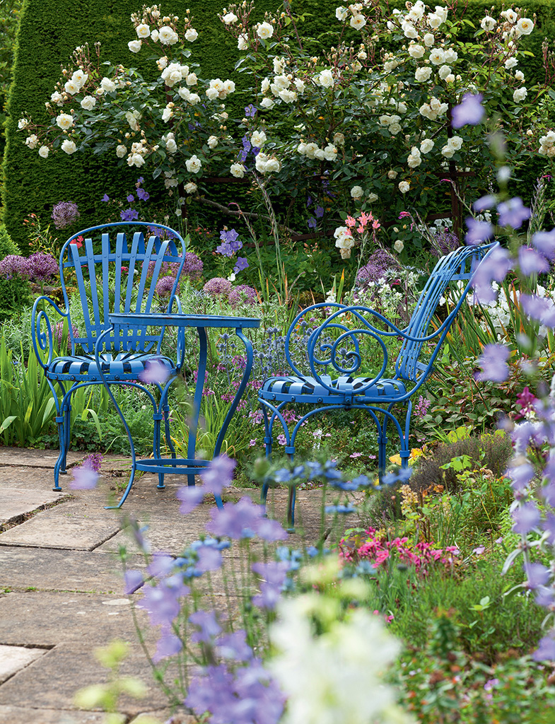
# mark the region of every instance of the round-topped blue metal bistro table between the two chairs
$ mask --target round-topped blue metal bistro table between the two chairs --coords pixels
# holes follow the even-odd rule
[[[109,314],[109,322],[111,324],[111,327],[106,329],[105,332],[103,332],[101,335],[99,335],[98,340],[96,342],[96,363],[98,365],[98,371],[100,373],[102,382],[104,384],[104,387],[106,387],[106,390],[108,391],[108,394],[111,397],[111,401],[114,403],[116,410],[119,414],[119,417],[122,418],[123,424],[125,426],[127,437],[130,441],[131,446],[131,455],[132,455],[132,469],[131,469],[131,476],[130,480],[127,483],[127,488],[125,489],[124,494],[122,495],[122,499],[119,500],[119,502],[114,505],[110,506],[111,508],[121,508],[123,503],[125,502],[125,499],[127,498],[127,495],[130,493],[133,479],[135,478],[135,471],[148,471],[151,473],[158,473],[158,489],[164,489],[164,473],[180,473],[187,475],[187,483],[189,485],[195,484],[195,475],[202,472],[206,466],[208,466],[208,463],[210,463],[210,460],[196,460],[195,459],[195,448],[196,448],[196,442],[197,442],[197,429],[198,429],[198,420],[200,416],[200,403],[203,397],[203,390],[204,390],[204,383],[205,383],[205,375],[206,375],[206,362],[207,362],[207,356],[208,356],[208,337],[207,337],[207,330],[208,329],[234,329],[235,334],[239,339],[241,340],[242,344],[245,347],[245,353],[247,357],[247,362],[245,365],[245,371],[243,372],[241,382],[239,387],[237,388],[237,392],[235,393],[235,396],[232,400],[231,405],[229,406],[229,410],[227,411],[226,417],[224,419],[224,423],[221,426],[221,429],[219,431],[218,437],[216,439],[216,445],[214,446],[213,450],[213,457],[216,458],[217,455],[220,454],[221,445],[224,442],[227,428],[229,426],[229,423],[232,420],[233,414],[235,410],[237,409],[237,405],[240,403],[241,397],[243,395],[243,392],[245,392],[245,388],[247,387],[247,382],[250,376],[250,371],[253,369],[253,345],[251,344],[250,340],[245,337],[245,334],[243,334],[243,329],[256,329],[260,327],[260,319],[255,319],[251,317],[238,317],[238,316],[216,316],[211,314],[167,314],[167,313],[110,313]],[[144,390],[150,397],[151,397],[151,403],[153,404],[154,408],[157,408],[154,413],[154,424],[155,424],[155,443],[154,443],[154,455],[153,458],[148,458],[145,460],[137,460],[135,458],[135,447],[133,446],[133,441],[130,433],[129,426],[127,425],[127,421],[124,418],[124,415],[122,411],[119,408],[119,405],[116,403],[116,400],[114,398],[114,395],[112,394],[110,390],[110,382],[106,381],[106,377],[103,374],[103,364],[100,358],[101,350],[102,350],[102,340],[103,337],[107,335],[111,335],[111,337],[116,337],[119,334],[119,329],[122,328],[132,328],[135,330],[135,334],[138,335],[138,337],[141,336],[141,334],[146,335],[147,334],[147,328],[148,327],[162,327],[162,334],[165,331],[166,327],[177,327],[178,328],[178,334],[177,334],[177,365],[172,365],[171,368],[168,368],[166,366],[161,366],[161,371],[164,371],[164,376],[167,375],[167,378],[165,380],[156,380],[156,376],[153,375],[153,379],[149,380],[149,382],[152,382],[152,384],[155,384],[156,387],[158,387],[158,390],[160,392],[160,398],[159,402],[156,403],[155,398],[153,397],[152,393],[148,390],[145,390],[144,387],[140,387],[140,389]],[[171,442],[171,434],[169,429],[169,405],[168,405],[168,391],[171,387],[172,382],[174,382],[177,379],[177,376],[179,372],[182,369],[183,362],[185,359],[185,329],[187,328],[194,328],[197,330],[198,334],[198,340],[200,343],[200,352],[199,352],[199,359],[198,359],[198,375],[197,375],[197,382],[195,385],[195,397],[193,400],[193,412],[192,412],[192,420],[190,422],[189,426],[189,439],[187,441],[187,458],[177,458],[174,446]],[[167,359],[167,358],[164,358]],[[120,381],[119,384],[122,384]],[[133,385],[134,387],[136,385]],[[165,427],[165,436],[166,436],[166,443],[171,450],[171,457],[170,458],[162,458],[161,452],[160,452],[160,427],[161,427],[161,421],[164,421],[164,427]],[[156,429],[157,428],[157,429]],[[216,497],[216,504],[219,506],[219,508],[222,507],[222,502],[220,497]]]

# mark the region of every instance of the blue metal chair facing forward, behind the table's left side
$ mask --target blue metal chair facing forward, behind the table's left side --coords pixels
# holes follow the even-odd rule
[[[128,241],[126,232],[130,231],[133,232],[132,240]],[[77,237],[83,237],[82,243],[77,241]],[[65,310],[59,308],[51,298],[41,296],[35,300],[32,317],[35,354],[56,403],[60,453],[54,466],[54,490],[62,489],[59,486],[59,475],[66,472],[72,395],[80,387],[103,384],[96,363],[95,346],[98,337],[106,332],[106,329],[111,328],[109,313],[151,311],[158,279],[168,274],[167,264],[174,264],[177,265],[174,267],[175,282],[166,305],[166,311],[171,312],[174,302],[179,306],[176,291],[184,262],[185,241],[182,237],[169,227],[150,222],[102,224],[77,232],[64,243],[60,252],[59,267]],[[73,294],[79,295],[82,305],[85,319],[85,330],[84,332],[80,330],[82,336],[75,334],[69,313],[67,289],[69,282],[71,286],[77,287]],[[62,319],[67,319],[70,346],[67,356],[53,358],[52,325],[46,313],[46,304],[54,308]],[[177,375],[179,362],[176,363],[169,357],[161,355],[163,337],[164,328],[156,329],[156,334],[151,334],[147,329],[123,325],[114,327],[101,340],[103,352],[99,357],[103,376],[109,386],[125,384],[128,387],[137,387],[151,400],[154,423],[153,453],[158,458],[162,419],[164,419],[166,442],[171,447],[169,405],[165,400],[164,407],[159,408],[151,390],[140,384],[140,375],[154,360],[166,368],[169,379]],[[56,390],[54,383],[59,390]],[[161,385],[156,382],[153,384],[158,387],[161,395]],[[114,400],[113,395],[110,396]],[[131,442],[134,473],[135,450],[130,430],[119,408],[118,412]],[[130,492],[132,477],[122,499],[116,505],[117,508],[123,504]],[[163,473],[158,474],[158,488],[164,488]]]

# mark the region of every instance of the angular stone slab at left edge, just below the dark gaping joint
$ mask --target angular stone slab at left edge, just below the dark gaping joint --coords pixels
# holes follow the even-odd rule
[[[0,547],[93,550],[120,528],[120,518],[115,511],[91,505],[84,507],[79,500],[72,500],[43,510],[40,515],[4,531],[0,534]]]

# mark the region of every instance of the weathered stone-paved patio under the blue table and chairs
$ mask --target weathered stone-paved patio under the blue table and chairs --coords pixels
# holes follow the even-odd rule
[[[68,465],[82,456],[70,453]],[[204,531],[213,505],[180,515],[175,492],[183,478],[166,475],[166,490],[159,491],[156,477],[144,475],[122,511],[105,510],[127,461],[105,460],[94,490],[70,491],[70,475],[62,476],[63,491],[56,493],[56,457],[55,451],[0,448],[0,724],[100,724],[101,712],[78,710],[73,700],[82,686],[107,681],[93,649],[116,638],[130,642],[122,675],[148,686],[145,699],[122,697],[126,722],[140,724],[147,714],[164,721],[170,711],[137,642],[116,553],[124,544],[130,568],[145,565],[125,530],[126,515],[148,525],[154,550],[176,555]],[[245,494],[258,501],[258,489],[234,487],[224,500]],[[270,495],[271,515],[282,520],[287,490]],[[321,525],[321,491],[299,492],[297,501],[303,531],[302,537],[289,534],[292,547],[316,542]],[[223,597],[221,578],[213,581],[216,599]],[[140,595],[139,589],[134,596]],[[156,641],[156,631],[150,639],[148,644]]]

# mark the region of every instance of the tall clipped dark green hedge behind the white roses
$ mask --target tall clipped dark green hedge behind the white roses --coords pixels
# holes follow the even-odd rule
[[[295,0],[294,12],[309,13],[302,33],[317,36],[330,29],[330,19],[338,0]],[[402,7],[401,3],[396,3]],[[217,19],[224,3],[222,0],[192,0],[184,3],[178,0],[162,0],[162,12],[183,15],[190,7],[195,17],[195,28],[199,30],[198,41],[192,46],[192,60],[200,62],[203,75],[211,77],[233,77],[237,83],[230,106],[238,108],[250,102],[242,97],[241,89],[248,83],[245,75],[233,72],[237,60],[235,42],[223,29]],[[501,9],[500,3],[495,3]],[[519,67],[525,72],[528,85],[543,79],[541,73],[541,43],[544,36],[555,38],[555,0],[522,0],[522,8],[530,8],[538,14],[538,28],[525,38],[525,47],[535,54],[534,59],[522,60]],[[20,28],[17,35],[14,82],[9,97],[9,122],[7,123],[7,146],[4,157],[4,223],[10,235],[22,248],[25,244],[25,229],[22,220],[35,212],[43,225],[50,219],[51,210],[59,201],[74,201],[81,212],[82,225],[96,222],[101,212],[101,198],[109,193],[112,198],[124,198],[137,180],[137,169],[130,170],[123,164],[116,167],[113,159],[83,153],[79,156],[65,156],[63,153],[41,159],[22,143],[22,134],[17,132],[17,121],[24,112],[33,119],[48,118],[44,102],[48,100],[54,83],[59,79],[63,66],[75,46],[88,41],[91,48],[95,41],[101,41],[101,59],[137,65],[147,71],[149,62],[143,56],[130,59],[127,41],[132,35],[130,14],[141,7],[137,0],[67,0],[60,12],[59,0],[25,0]],[[255,20],[261,20],[265,10],[275,11],[275,0],[258,0]],[[492,4],[483,0],[471,2],[466,17],[478,25],[481,17],[491,12]],[[338,24],[339,25],[339,24]],[[331,25],[335,28],[335,25]],[[152,61],[150,62],[153,67]],[[148,72],[148,71],[147,71]],[[232,99],[230,98],[230,101]],[[230,116],[232,111],[230,110]],[[146,177],[145,186],[150,193],[156,191],[154,182]],[[158,193],[162,193],[158,187]]]

